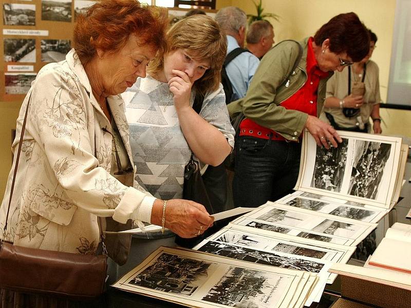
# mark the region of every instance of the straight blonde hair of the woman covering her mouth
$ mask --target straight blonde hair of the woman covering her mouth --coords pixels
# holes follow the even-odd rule
[[[186,50],[196,60],[210,61],[210,68],[193,88],[205,94],[218,89],[221,67],[226,58],[227,39],[217,22],[207,15],[192,15],[174,24],[166,34],[167,50],[150,63],[148,72],[157,74],[164,68],[164,57],[177,49]]]

